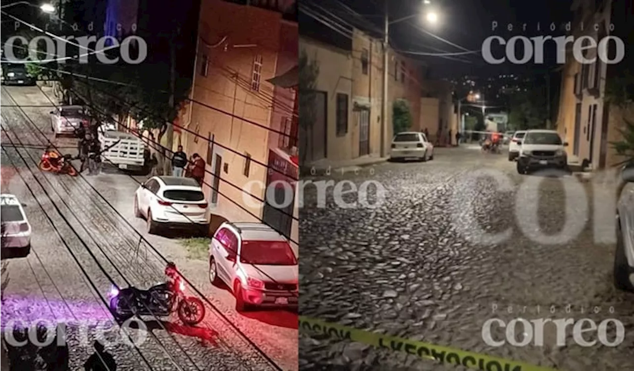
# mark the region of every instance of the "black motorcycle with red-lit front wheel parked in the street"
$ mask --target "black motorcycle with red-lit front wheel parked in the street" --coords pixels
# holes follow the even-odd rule
[[[184,284],[158,284],[147,290],[127,287],[110,291],[110,310],[117,320],[125,321],[135,315],[167,317],[178,313],[178,318],[186,325],[197,325],[205,318],[205,305],[202,300],[184,295]]]

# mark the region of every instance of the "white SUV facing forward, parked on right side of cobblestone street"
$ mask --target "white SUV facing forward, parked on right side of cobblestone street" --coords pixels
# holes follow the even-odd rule
[[[566,142],[555,130],[527,130],[519,144],[517,172],[527,174],[533,170],[555,168],[567,171]]]

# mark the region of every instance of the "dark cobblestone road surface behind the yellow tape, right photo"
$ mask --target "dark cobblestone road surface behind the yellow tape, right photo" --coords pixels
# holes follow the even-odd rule
[[[488,172],[489,177],[477,179],[474,172]],[[496,186],[491,175],[507,184]],[[332,197],[326,208],[318,208],[315,191],[306,196],[301,214],[302,315],[562,370],[634,369],[634,297],[612,287],[614,244],[593,242],[613,233],[614,206],[607,196],[597,196],[595,207],[607,213],[597,217],[599,228],[593,232],[593,217],[584,217],[595,199],[590,183],[572,176],[518,175],[504,153],[484,154],[477,148],[437,149],[436,159],[427,163],[384,163],[357,174],[333,172],[328,179],[356,185],[375,180],[384,185],[386,197],[377,208],[344,209]],[[357,197],[358,192],[344,195],[348,201]],[[571,229],[573,220],[578,230]],[[505,239],[493,239],[505,230]],[[488,238],[482,238],[484,232]],[[599,313],[591,313],[595,306]],[[626,331],[623,343],[613,348],[578,346],[570,329],[567,346],[557,346],[552,325],[545,327],[543,346],[496,348],[484,343],[486,320],[508,323],[520,317],[588,317],[597,324],[616,318]],[[503,330],[496,328],[494,339],[504,339]],[[608,329],[612,341],[616,335],[612,326]],[[597,339],[596,333],[585,336]],[[300,365],[307,370],[337,365],[355,370],[453,369],[304,334]]]

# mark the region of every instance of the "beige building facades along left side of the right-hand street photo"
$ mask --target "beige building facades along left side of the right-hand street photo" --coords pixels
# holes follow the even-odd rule
[[[408,101],[410,129],[418,129],[424,90],[422,63],[389,49],[388,104],[384,120],[382,42],[353,28],[347,45],[342,42],[335,46],[302,36],[300,49],[319,67],[314,93],[315,122],[306,133],[306,148],[301,148],[307,164],[380,157],[382,147],[389,152],[394,135],[393,104],[398,99]]]

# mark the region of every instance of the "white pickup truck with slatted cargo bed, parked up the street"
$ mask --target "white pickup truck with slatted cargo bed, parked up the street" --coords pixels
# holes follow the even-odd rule
[[[101,163],[112,165],[122,170],[138,171],[145,164],[145,144],[132,134],[108,130],[99,130],[101,142]],[[116,143],[116,144],[115,144]]]

